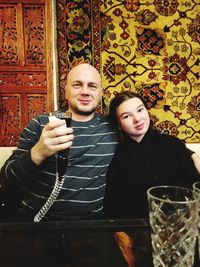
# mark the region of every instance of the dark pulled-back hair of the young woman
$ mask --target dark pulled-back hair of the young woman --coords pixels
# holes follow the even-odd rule
[[[124,92],[118,93],[110,102],[108,118],[109,118],[110,125],[113,128],[113,130],[116,131],[119,140],[122,139],[122,132],[119,130],[117,109],[124,101],[131,99],[131,98],[135,98],[135,97],[139,98],[144,104],[144,106],[146,107],[145,102],[142,99],[142,97],[139,94],[130,92],[130,91],[124,91]]]

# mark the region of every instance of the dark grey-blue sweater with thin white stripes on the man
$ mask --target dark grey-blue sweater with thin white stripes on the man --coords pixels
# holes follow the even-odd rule
[[[2,168],[1,185],[22,187],[21,210],[33,216],[51,194],[56,179],[56,156],[36,166],[30,149],[38,142],[47,115],[34,118],[22,131],[17,149]],[[48,211],[49,219],[81,219],[98,217],[103,210],[106,172],[117,145],[115,133],[107,117],[95,113],[88,122],[72,120],[73,145],[64,185]]]

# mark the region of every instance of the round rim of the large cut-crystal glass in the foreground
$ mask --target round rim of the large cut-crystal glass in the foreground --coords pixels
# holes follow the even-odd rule
[[[154,196],[152,193],[150,193],[151,190],[159,189],[159,188],[173,188],[173,189],[181,189],[181,190],[184,190],[184,191],[188,191],[188,192],[191,193],[192,199],[188,199],[188,200],[170,200],[170,199],[164,199],[164,198],[161,198],[161,197]],[[176,203],[176,204],[188,204],[188,203],[199,202],[199,199],[195,198],[193,193],[194,193],[193,190],[190,189],[190,188],[182,187],[182,186],[175,186],[175,185],[152,186],[147,190],[148,198],[151,197],[153,199],[156,199],[156,200],[159,200],[159,201],[162,201],[162,202],[165,202],[165,203]]]

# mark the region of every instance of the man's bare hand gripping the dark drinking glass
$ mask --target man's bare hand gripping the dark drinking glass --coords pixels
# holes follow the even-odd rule
[[[45,125],[39,141],[31,149],[31,158],[36,165],[40,165],[47,157],[72,145],[73,129],[62,127],[64,125],[65,121],[60,119]]]

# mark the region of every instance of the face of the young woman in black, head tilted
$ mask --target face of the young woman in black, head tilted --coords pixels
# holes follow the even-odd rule
[[[119,105],[117,117],[121,130],[137,142],[142,140],[149,129],[149,113],[137,97],[127,99]]]

